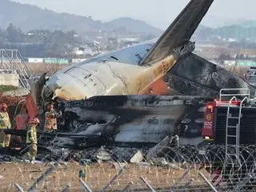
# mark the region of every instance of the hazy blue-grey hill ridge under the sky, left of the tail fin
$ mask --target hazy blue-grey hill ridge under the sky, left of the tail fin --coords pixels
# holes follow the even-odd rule
[[[133,18],[118,18],[112,22],[100,22],[94,21],[91,17],[66,13],[58,14],[51,10],[42,10],[38,6],[1,0],[0,28],[6,28],[10,23],[24,31],[34,29],[76,30],[78,33],[87,33],[94,30],[125,28],[125,30],[132,33],[150,33],[154,35],[162,33],[162,30]]]

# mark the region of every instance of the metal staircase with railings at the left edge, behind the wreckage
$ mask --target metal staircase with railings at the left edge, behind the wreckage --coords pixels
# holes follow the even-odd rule
[[[30,89],[32,74],[18,50],[0,50],[0,65],[0,69],[16,70],[20,86]]]

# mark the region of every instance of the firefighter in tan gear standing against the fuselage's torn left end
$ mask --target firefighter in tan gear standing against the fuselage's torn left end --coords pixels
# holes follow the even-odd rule
[[[54,106],[51,104],[47,106],[46,120],[44,126],[44,132],[50,133],[57,131],[57,118],[58,113],[55,112]]]

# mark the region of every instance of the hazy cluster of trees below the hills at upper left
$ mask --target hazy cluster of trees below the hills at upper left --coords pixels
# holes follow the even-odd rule
[[[80,46],[82,41],[75,35],[74,30],[62,31],[62,30],[30,30],[28,33],[23,34],[22,30],[13,23],[6,28],[6,30],[0,30],[0,45],[5,45],[7,42],[25,42],[30,45],[10,45],[8,49],[17,49],[25,54],[26,57],[44,57],[50,55],[66,55],[74,46]],[[18,47],[19,46],[19,47]]]

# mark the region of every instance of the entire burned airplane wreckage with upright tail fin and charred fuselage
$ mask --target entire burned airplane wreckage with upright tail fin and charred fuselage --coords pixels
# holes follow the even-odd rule
[[[62,117],[58,133],[38,132],[38,146],[86,153],[106,146],[116,155],[116,149],[153,149],[166,136],[178,135],[179,145],[200,144],[206,102],[223,88],[255,92],[242,78],[192,53],[190,38],[212,2],[191,0],[157,40],[90,58],[47,81],[42,75],[31,86],[41,126],[53,100]]]

